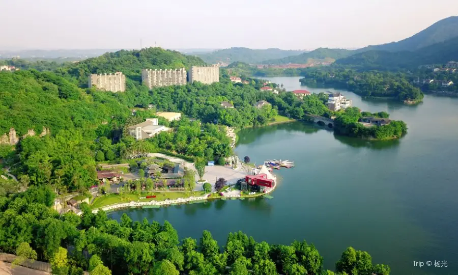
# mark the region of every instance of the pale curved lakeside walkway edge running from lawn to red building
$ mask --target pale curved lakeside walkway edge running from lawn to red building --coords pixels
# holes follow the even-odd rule
[[[92,210],[92,213],[97,213],[99,212],[100,209],[102,209],[103,211],[111,211],[111,210],[116,210],[116,209],[121,209],[121,208],[132,208],[132,207],[143,207],[143,206],[158,206],[158,207],[161,207],[161,206],[168,206],[168,205],[171,205],[171,204],[186,204],[186,203],[189,203],[189,202],[196,202],[196,203],[203,203],[203,202],[207,202],[209,200],[221,200],[221,199],[224,199],[224,198],[235,198],[235,199],[244,199],[244,198],[256,198],[256,197],[262,197],[264,195],[267,195],[269,193],[271,193],[273,190],[275,190],[275,188],[277,187],[277,183],[276,183],[276,180],[275,180],[275,185],[272,187],[272,188],[269,188],[266,190],[266,193],[260,193],[260,194],[255,194],[255,195],[252,195],[252,196],[249,196],[249,197],[242,197],[240,195],[228,195],[228,196],[222,196],[222,197],[219,197],[219,198],[208,198],[208,195],[205,195],[205,196],[200,196],[200,197],[190,197],[190,198],[186,198],[186,199],[176,199],[176,200],[166,200],[166,201],[151,201],[151,202],[128,202],[128,203],[117,203],[117,204],[111,204],[111,205],[107,205],[107,206],[103,206],[103,207],[99,207],[99,208],[96,208],[96,209],[93,209]],[[80,215],[80,213],[78,213],[78,215]]]

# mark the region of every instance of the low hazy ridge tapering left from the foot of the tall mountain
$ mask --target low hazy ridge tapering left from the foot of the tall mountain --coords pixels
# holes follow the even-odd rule
[[[311,59],[339,59],[348,57],[353,53],[351,50],[347,49],[330,49],[330,48],[318,48],[316,50],[312,50],[310,52],[304,52],[299,56],[290,56],[281,59],[271,59],[266,60],[263,64],[288,64],[288,63],[297,63],[297,64],[305,64],[308,63]]]

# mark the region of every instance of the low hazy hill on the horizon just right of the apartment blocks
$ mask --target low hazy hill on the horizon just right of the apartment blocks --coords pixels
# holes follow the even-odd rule
[[[300,50],[282,50],[277,48],[270,49],[249,49],[244,47],[233,47],[221,49],[210,53],[198,54],[207,63],[217,63],[218,61],[226,62],[227,58],[232,62],[245,62],[249,64],[258,64],[268,59],[279,59],[288,56],[296,56],[304,51]]]

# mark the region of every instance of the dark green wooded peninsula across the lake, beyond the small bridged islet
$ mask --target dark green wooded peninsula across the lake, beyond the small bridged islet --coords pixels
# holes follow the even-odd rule
[[[347,89],[362,96],[391,97],[397,100],[423,99],[420,89],[414,87],[403,73],[328,68],[304,71],[302,85],[327,86]]]

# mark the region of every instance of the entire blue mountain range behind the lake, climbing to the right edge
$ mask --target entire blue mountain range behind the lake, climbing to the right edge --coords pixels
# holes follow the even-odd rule
[[[398,42],[356,50],[319,48],[298,56],[266,60],[264,64],[307,63],[309,59],[334,59],[336,64],[365,69],[411,68],[422,64],[458,60],[458,16],[442,19]]]

